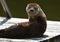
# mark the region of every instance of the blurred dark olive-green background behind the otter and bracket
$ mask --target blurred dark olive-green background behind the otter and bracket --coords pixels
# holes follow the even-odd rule
[[[60,0],[6,0],[13,17],[27,18],[25,11],[28,3],[38,3],[48,20],[60,21]],[[6,16],[0,4],[0,16]]]

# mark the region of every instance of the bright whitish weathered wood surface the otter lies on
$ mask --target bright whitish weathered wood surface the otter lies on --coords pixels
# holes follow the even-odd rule
[[[5,18],[0,17],[0,22]],[[0,25],[0,30],[15,25],[16,23],[21,23],[29,21],[28,19],[23,18],[11,18],[3,25]],[[0,38],[1,42],[59,42],[57,38],[60,35],[60,22],[59,21],[47,21],[47,29],[42,37],[39,38],[30,38],[30,39],[8,39],[8,38]],[[59,38],[58,38],[59,39]]]

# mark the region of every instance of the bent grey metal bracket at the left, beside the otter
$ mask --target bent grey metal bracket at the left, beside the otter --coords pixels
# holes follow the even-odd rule
[[[2,25],[5,22],[7,22],[7,20],[10,19],[12,17],[12,15],[11,15],[11,12],[10,12],[8,6],[7,6],[6,0],[0,0],[0,3],[3,7],[4,12],[7,14],[6,19],[4,19],[2,22],[0,22],[0,25]]]

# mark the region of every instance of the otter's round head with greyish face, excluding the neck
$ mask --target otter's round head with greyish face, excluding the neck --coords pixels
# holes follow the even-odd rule
[[[37,3],[30,3],[26,7],[26,11],[28,14],[37,15],[39,13],[40,6]]]

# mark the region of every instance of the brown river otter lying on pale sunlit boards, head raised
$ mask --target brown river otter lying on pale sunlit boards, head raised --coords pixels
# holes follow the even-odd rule
[[[37,3],[29,3],[26,7],[28,22],[18,23],[0,30],[2,38],[40,37],[46,31],[46,15]]]

